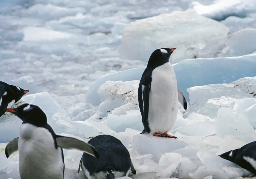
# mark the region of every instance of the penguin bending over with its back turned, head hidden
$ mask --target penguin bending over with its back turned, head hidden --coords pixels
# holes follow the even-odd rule
[[[114,179],[128,176],[130,171],[136,174],[130,154],[121,141],[113,136],[99,135],[92,138],[88,144],[95,147],[100,158],[94,158],[83,153],[78,172],[82,167],[88,179]]]

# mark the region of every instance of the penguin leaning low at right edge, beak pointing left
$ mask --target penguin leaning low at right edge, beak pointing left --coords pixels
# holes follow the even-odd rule
[[[240,149],[230,150],[219,155],[238,166],[256,174],[256,141],[244,145]]]

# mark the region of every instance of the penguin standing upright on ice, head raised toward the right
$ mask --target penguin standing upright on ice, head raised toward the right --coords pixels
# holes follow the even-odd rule
[[[167,134],[178,115],[178,101],[187,109],[187,101],[177,88],[177,80],[169,58],[176,48],[159,48],[150,56],[142,74],[139,107],[144,130],[141,134],[176,138]],[[178,97],[179,96],[179,97]]]

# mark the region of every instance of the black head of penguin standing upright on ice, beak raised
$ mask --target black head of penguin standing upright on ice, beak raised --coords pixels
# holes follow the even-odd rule
[[[169,62],[171,54],[176,48],[158,48],[150,56],[148,67],[158,67]]]

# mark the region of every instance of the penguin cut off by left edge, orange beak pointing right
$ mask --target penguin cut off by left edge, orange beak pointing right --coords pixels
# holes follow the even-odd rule
[[[20,87],[8,85],[0,81],[0,116],[27,92],[29,90],[23,90]]]

